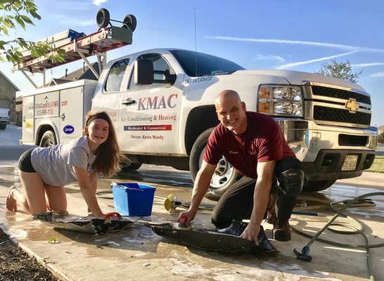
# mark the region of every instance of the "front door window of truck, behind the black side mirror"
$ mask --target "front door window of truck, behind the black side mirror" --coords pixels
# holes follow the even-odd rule
[[[134,84],[134,71],[132,71],[131,78],[129,79],[128,89],[132,90],[132,89],[164,87],[165,83],[160,82],[160,81],[165,81],[164,75],[161,74],[161,72],[164,72],[165,70],[167,70],[167,71],[169,71],[169,74],[174,74],[174,70],[167,63],[167,60],[165,60],[165,58],[162,58],[162,56],[158,53],[146,53],[145,55],[140,55],[139,58],[137,58],[137,59],[138,60],[141,60],[141,59],[152,60],[153,70],[155,72],[155,74],[153,75],[153,79],[155,81],[151,85],[136,85],[136,84]]]

